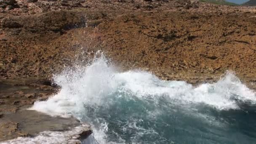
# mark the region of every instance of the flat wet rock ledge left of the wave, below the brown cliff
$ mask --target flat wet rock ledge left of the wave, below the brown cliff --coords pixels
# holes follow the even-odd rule
[[[60,135],[62,135],[61,133],[64,135],[68,131],[73,131],[74,133],[70,132],[63,138],[65,140],[69,139],[69,143],[77,143],[81,140],[81,137],[85,139],[89,136],[92,133],[90,126],[80,123],[74,117],[51,117],[41,112],[27,110],[29,107],[32,107],[35,101],[48,99],[57,89],[48,80],[1,80],[0,141],[3,141],[3,143],[24,143],[25,139],[15,138],[35,138],[36,136],[40,136],[42,134],[40,132],[43,131],[44,133],[58,131]],[[51,135],[42,135],[46,139],[52,139]],[[42,142],[42,139],[38,138],[33,141]]]

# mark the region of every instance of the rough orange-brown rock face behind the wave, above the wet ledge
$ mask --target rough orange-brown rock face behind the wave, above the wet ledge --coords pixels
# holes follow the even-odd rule
[[[88,52],[99,49],[122,70],[148,67],[154,73],[215,75],[234,68],[237,75],[256,76],[255,8],[190,1],[94,0],[92,5],[40,0],[24,11],[0,13],[0,29],[8,34],[0,40],[0,77],[51,77],[77,57],[86,63],[93,57]],[[79,9],[85,5],[90,8]]]

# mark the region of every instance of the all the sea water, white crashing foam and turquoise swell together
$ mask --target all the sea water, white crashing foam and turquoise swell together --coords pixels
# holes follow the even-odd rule
[[[101,56],[54,81],[59,93],[31,109],[90,123],[85,144],[256,143],[256,93],[232,73],[194,87],[139,70],[118,72]]]

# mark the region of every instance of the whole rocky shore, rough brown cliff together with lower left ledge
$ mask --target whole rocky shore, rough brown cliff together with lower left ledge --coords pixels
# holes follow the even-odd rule
[[[99,50],[120,71],[195,85],[232,71],[256,89],[255,27],[256,7],[198,0],[0,1],[0,141],[82,125],[24,109],[59,90],[53,74]],[[28,130],[25,119],[46,129]]]

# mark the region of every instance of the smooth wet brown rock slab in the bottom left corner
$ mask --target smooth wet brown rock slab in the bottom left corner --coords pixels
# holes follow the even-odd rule
[[[21,126],[18,128],[19,125]],[[73,117],[51,117],[41,112],[22,109],[16,113],[5,115],[0,119],[0,141],[14,139],[18,136],[35,136],[42,131],[61,131],[65,133],[65,131],[72,130],[73,128],[75,128],[76,132],[71,133],[67,140],[80,140],[80,138],[83,138],[83,136],[87,137],[92,132],[89,125],[82,124]],[[50,135],[45,133],[43,136],[47,137]],[[54,140],[52,142],[54,143]],[[14,143],[19,142],[16,141]]]

